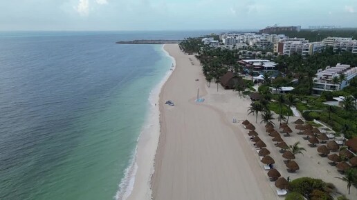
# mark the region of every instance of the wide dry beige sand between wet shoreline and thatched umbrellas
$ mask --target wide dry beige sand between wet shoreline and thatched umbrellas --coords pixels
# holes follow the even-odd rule
[[[242,130],[216,102],[194,102],[197,88],[201,97],[208,94],[199,62],[178,45],[165,50],[176,59],[176,69],[160,94],[153,199],[276,199]],[[167,100],[175,106],[163,104]],[[239,109],[246,115],[245,105]]]

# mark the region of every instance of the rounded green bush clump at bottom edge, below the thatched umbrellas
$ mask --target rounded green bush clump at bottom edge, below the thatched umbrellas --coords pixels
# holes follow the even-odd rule
[[[302,177],[295,179],[289,183],[289,190],[292,192],[297,192],[302,194],[302,196],[307,199],[333,199],[331,197],[331,186],[330,183],[324,183],[321,179],[313,179],[310,177]]]

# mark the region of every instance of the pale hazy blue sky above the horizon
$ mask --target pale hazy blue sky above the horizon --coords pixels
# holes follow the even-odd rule
[[[357,0],[0,0],[0,30],[357,27]]]

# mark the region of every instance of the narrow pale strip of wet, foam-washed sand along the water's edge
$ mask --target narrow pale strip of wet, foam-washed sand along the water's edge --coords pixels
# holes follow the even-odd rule
[[[165,49],[161,50],[172,60],[172,67],[165,73],[161,81],[154,86],[149,94],[149,112],[140,135],[130,164],[125,170],[125,177],[120,181],[115,199],[152,199],[151,179],[154,173],[155,154],[160,136],[160,93],[166,81],[174,72],[176,61]]]

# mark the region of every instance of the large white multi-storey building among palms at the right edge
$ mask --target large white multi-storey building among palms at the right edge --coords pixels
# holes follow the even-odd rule
[[[346,79],[339,83],[334,83],[333,77],[340,77],[345,74]],[[313,94],[321,94],[323,91],[342,90],[349,86],[349,81],[356,77],[357,67],[338,63],[335,67],[327,66],[325,70],[318,70],[316,77],[313,78]]]

